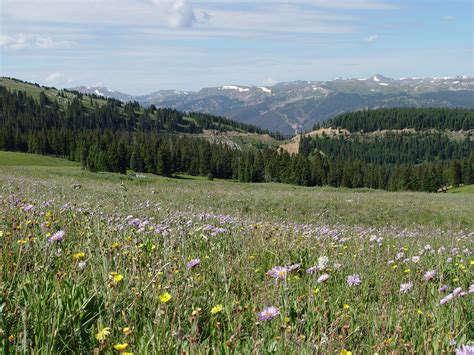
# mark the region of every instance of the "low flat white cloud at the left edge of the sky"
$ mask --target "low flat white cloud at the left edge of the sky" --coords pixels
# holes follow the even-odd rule
[[[35,34],[19,33],[13,36],[0,34],[0,47],[11,50],[25,48],[54,49],[70,48],[71,43],[69,41],[56,41],[49,36],[40,36]]]

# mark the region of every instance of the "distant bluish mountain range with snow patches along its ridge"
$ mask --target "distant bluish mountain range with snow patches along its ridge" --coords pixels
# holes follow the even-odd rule
[[[474,78],[388,78],[295,81],[273,86],[224,85],[197,92],[160,90],[132,96],[105,87],[72,88],[83,93],[222,115],[271,131],[292,134],[344,112],[380,107],[474,108]]]

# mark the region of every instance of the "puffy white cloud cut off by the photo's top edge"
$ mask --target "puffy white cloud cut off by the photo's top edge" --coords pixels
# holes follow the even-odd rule
[[[171,27],[192,27],[196,21],[194,8],[188,0],[152,0],[152,2]]]

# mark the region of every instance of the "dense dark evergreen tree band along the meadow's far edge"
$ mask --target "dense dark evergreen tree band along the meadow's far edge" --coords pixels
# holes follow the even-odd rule
[[[242,182],[393,191],[436,191],[446,184],[474,182],[474,157],[470,152],[456,153],[445,160],[393,163],[355,155],[341,158],[336,153],[308,150],[304,146],[302,154],[296,155],[276,148],[238,150],[226,144],[211,144],[178,129],[157,130],[153,122],[159,121],[159,115],[153,119],[141,115],[130,119],[132,109],[133,114],[139,111],[134,103],[123,107],[114,103],[84,107],[80,100],[72,100],[64,108],[45,96],[33,100],[25,93],[0,88],[0,149],[66,157],[80,161],[90,171],[126,173],[131,169],[164,176],[186,173]],[[120,110],[130,111],[123,115]],[[180,117],[175,110],[159,112],[163,123]]]

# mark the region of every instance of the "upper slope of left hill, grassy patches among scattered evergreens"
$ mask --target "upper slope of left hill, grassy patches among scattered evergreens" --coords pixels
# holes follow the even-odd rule
[[[84,94],[72,89],[59,90],[14,78],[0,77],[1,87],[23,92],[36,101],[40,101],[40,96],[43,95],[49,101],[53,112],[56,111],[55,105],[57,105],[59,111],[71,116],[71,120],[76,115],[95,116],[96,128],[111,127],[113,121],[115,125],[120,121],[121,125],[130,126],[127,128],[131,131],[188,134],[243,150],[259,148],[262,145],[276,147],[280,144],[279,140],[270,136],[269,131],[251,124],[199,112],[144,108],[136,102],[124,103],[114,98],[107,98],[105,95],[98,95],[92,88],[91,94]]]

